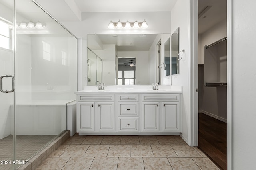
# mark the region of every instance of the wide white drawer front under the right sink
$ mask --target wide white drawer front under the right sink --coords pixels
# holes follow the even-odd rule
[[[179,101],[180,100],[180,94],[143,94],[142,95],[143,101]]]

